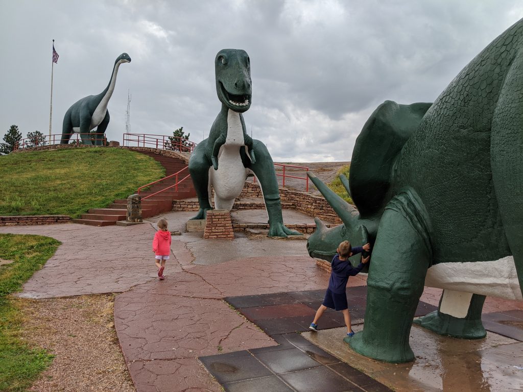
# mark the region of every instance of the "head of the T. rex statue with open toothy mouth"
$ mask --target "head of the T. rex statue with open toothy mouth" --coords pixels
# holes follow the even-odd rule
[[[251,107],[251,61],[241,49],[222,49],[214,60],[218,99],[229,109],[243,113]]]

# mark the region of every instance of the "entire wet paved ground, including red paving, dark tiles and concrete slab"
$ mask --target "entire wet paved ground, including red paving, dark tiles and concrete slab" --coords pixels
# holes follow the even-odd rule
[[[253,392],[523,388],[523,370],[515,367],[523,366],[522,302],[487,298],[483,319],[489,332],[483,340],[445,338],[413,326],[416,360],[383,364],[348,349],[339,313],[325,313],[319,332],[303,332],[328,282],[328,274],[307,255],[305,241],[241,233],[233,241],[203,240],[201,233],[185,233],[193,215],[163,216],[170,230],[182,232],[173,236],[164,281],[156,277],[151,251],[160,217],[129,227],[70,223],[0,227],[0,233],[62,241],[22,296],[121,293],[115,327],[139,392],[220,391],[222,386]],[[266,220],[263,210],[233,215],[241,222]],[[283,216],[286,223],[313,222],[292,210],[283,210]],[[418,315],[434,309],[440,294],[426,288]],[[359,330],[365,275],[349,279],[348,298]]]

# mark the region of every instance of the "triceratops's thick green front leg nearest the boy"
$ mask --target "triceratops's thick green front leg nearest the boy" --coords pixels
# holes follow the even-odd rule
[[[413,224],[420,214],[409,213],[408,201],[397,204],[391,208],[389,203],[381,218],[367,280],[365,324],[349,342],[354,351],[391,363],[414,359],[408,339],[431,259],[428,233]]]

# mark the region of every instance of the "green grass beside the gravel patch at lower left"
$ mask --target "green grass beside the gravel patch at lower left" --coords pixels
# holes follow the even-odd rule
[[[0,391],[25,391],[52,362],[52,355],[20,339],[21,315],[8,294],[20,291],[59,245],[48,237],[0,234],[0,258],[14,260],[0,266]]]

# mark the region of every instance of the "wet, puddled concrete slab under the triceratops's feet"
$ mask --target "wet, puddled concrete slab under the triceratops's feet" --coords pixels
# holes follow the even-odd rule
[[[360,331],[362,325],[353,326]],[[523,390],[523,343],[487,332],[480,340],[442,337],[413,325],[414,362],[390,364],[371,360],[343,342],[345,327],[304,332],[302,336],[398,392]]]

